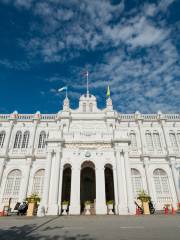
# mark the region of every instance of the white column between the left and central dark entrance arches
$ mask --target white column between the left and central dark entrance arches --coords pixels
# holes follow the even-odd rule
[[[71,196],[69,214],[80,214],[80,167],[74,165],[71,169]]]

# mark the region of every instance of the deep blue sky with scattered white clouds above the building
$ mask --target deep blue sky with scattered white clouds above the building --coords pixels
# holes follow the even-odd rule
[[[0,112],[180,113],[180,0],[0,0]]]

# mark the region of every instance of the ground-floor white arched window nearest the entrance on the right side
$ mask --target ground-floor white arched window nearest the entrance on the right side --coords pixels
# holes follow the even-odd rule
[[[132,180],[132,187],[133,187],[133,195],[134,195],[134,198],[137,198],[138,193],[143,190],[143,185],[142,185],[141,174],[135,168],[131,169],[131,180]]]

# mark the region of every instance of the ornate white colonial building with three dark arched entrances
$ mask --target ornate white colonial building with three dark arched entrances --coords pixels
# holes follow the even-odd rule
[[[80,97],[78,109],[65,98],[57,114],[0,115],[0,210],[32,193],[46,215],[135,213],[139,191],[156,209],[180,202],[180,115],[123,114],[110,98],[99,109],[95,96]]]

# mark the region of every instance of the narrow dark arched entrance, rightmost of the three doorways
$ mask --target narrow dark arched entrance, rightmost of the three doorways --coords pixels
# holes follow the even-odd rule
[[[106,202],[113,201],[113,206],[115,203],[114,198],[114,179],[113,170],[111,164],[105,165],[105,190],[106,190]],[[114,208],[113,208],[114,211]]]

